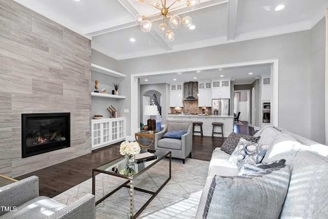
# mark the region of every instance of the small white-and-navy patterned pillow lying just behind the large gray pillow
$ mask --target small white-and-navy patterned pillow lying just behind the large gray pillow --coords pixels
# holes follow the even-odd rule
[[[270,169],[273,167],[279,167],[284,165],[286,160],[281,159],[277,161],[272,161],[269,163],[260,163],[260,164],[250,164],[247,161],[241,161],[238,163],[238,175],[248,175],[255,172],[263,171],[264,169]]]

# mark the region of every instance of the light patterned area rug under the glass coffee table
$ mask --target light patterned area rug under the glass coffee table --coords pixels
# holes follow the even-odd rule
[[[169,159],[165,158],[143,173],[134,181],[135,187],[157,190],[168,177]],[[171,180],[157,194],[137,218],[194,218],[202,189],[206,183],[208,161],[172,159]],[[149,177],[151,176],[151,178]],[[100,173],[96,175],[96,201],[114,190],[126,180]],[[87,193],[92,193],[92,178],[53,197],[68,205]],[[96,206],[96,218],[130,218],[130,195],[128,188],[122,188]],[[144,205],[150,194],[134,192],[134,213]]]

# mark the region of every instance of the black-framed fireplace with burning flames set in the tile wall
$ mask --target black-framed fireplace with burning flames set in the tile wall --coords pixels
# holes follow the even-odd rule
[[[22,114],[22,157],[70,147],[70,113]]]

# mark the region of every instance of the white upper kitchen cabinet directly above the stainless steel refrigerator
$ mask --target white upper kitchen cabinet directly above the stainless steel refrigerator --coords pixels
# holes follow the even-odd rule
[[[212,99],[230,98],[230,80],[212,79]]]

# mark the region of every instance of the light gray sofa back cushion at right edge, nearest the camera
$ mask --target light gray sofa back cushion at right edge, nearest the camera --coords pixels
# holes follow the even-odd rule
[[[327,218],[328,157],[301,149],[290,166],[290,186],[281,218]]]

